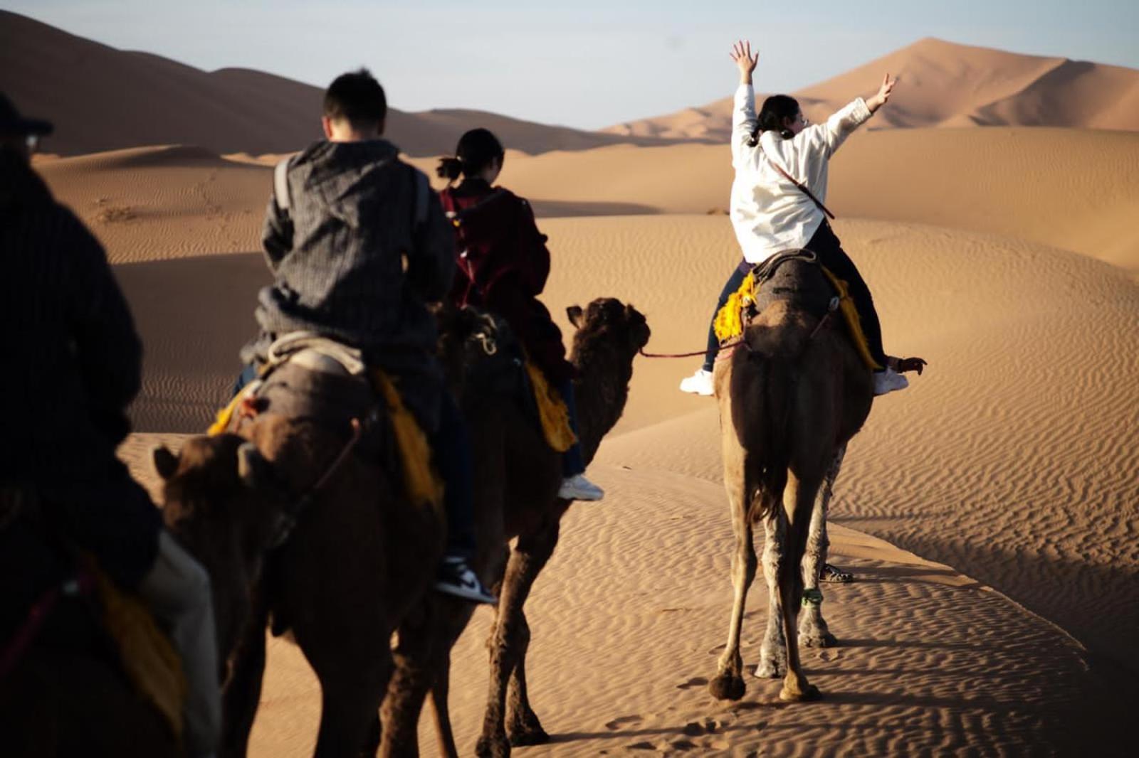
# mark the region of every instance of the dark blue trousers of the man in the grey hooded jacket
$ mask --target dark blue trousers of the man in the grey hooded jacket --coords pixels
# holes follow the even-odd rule
[[[246,365],[233,386],[233,394],[256,379],[257,370]],[[573,418],[573,417],[571,417]],[[576,428],[574,429],[576,431]],[[475,557],[475,501],[474,461],[470,454],[470,434],[458,404],[450,392],[443,392],[440,403],[439,427],[431,435],[435,464],[443,479],[443,510],[446,511],[446,554]],[[579,451],[577,458],[581,458]],[[582,465],[582,471],[585,467]]]

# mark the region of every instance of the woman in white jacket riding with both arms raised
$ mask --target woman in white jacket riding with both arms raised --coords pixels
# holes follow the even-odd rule
[[[731,186],[731,224],[744,261],[728,278],[713,319],[752,266],[779,250],[805,247],[849,285],[870,354],[884,366],[875,371],[875,394],[904,389],[909,385],[906,377],[886,368],[890,361],[883,352],[882,328],[870,290],[827,223],[829,212],[823,206],[830,156],[851,132],[886,104],[896,80],[886,74],[877,94],[869,100],[857,98],[822,124],[811,125],[798,102],[786,94],[764,100],[756,117],[752,72],[760,56],[752,55],[751,42],[737,42],[730,55],[739,68],[731,124],[731,157],[736,170]],[[680,382],[683,392],[713,393],[712,366],[718,351],[719,341],[710,327],[704,365]]]

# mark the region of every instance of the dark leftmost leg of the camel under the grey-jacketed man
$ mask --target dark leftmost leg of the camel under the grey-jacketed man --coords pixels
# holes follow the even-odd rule
[[[232,668],[222,693],[222,748],[226,758],[245,758],[249,732],[261,702],[261,679],[265,672],[265,626],[269,607],[264,588],[251,599],[249,619],[231,657]]]

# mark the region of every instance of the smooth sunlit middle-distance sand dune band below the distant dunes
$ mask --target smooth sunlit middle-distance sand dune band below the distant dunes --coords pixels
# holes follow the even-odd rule
[[[264,160],[194,148],[47,159],[38,167],[114,262],[260,247]],[[434,158],[415,158],[434,176]],[[435,180],[437,187],[442,182]],[[723,146],[614,146],[507,154],[502,183],[539,216],[722,213]],[[827,204],[842,219],[912,221],[1027,239],[1139,273],[1139,134],[1063,129],[858,133],[835,156]],[[662,222],[663,223],[663,222]],[[724,229],[728,222],[723,220]],[[730,248],[730,233],[721,236]]]

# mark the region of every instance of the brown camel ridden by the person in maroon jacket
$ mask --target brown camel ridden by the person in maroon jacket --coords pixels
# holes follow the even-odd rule
[[[573,306],[567,313],[576,327],[570,360],[579,370],[574,392],[582,453],[588,462],[624,411],[633,357],[647,344],[649,328],[636,308],[613,298],[596,299],[584,311]],[[444,362],[467,417],[475,453],[475,521],[480,546],[475,566],[481,577],[493,584],[499,596],[487,641],[490,686],[476,753],[509,756],[511,744],[538,744],[549,739],[527,695],[525,664],[530,626],[523,607],[539,572],[554,553],[562,516],[570,502],[557,496],[562,481],[560,456],[546,444],[535,422],[514,398],[487,394],[465,382],[472,373],[472,351],[475,354],[493,351],[493,321],[482,318],[461,327],[453,322],[448,324],[444,319],[441,332]],[[474,339],[466,339],[468,336]],[[460,369],[462,365],[465,370]],[[517,542],[510,547],[508,543],[515,537]],[[470,619],[473,607],[442,596],[433,600],[441,608],[440,620],[428,635],[433,640],[429,654],[437,666],[436,674],[424,678],[403,676],[398,670],[388,700],[399,701],[403,710],[418,712],[429,689],[440,744],[448,756],[457,756],[446,708],[450,650]],[[412,653],[411,658],[423,660],[420,656]]]

